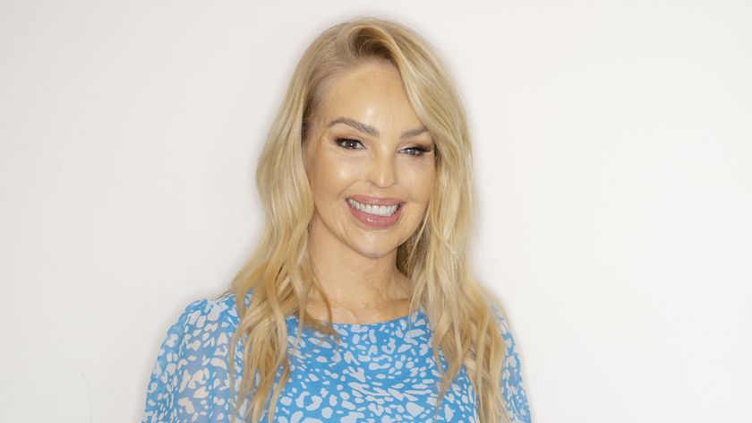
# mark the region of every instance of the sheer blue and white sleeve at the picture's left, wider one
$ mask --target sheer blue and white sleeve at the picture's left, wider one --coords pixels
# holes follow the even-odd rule
[[[200,299],[185,308],[159,350],[142,423],[230,421],[234,326],[225,303]]]

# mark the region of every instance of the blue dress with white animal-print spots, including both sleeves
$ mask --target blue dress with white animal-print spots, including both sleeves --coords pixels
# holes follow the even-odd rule
[[[250,295],[246,304],[249,300]],[[143,422],[242,421],[230,419],[236,391],[230,389],[228,376],[230,341],[238,322],[232,295],[201,299],[185,308],[159,351]],[[292,346],[298,320],[293,315],[286,322]],[[508,349],[502,393],[512,421],[529,423],[515,342],[503,318],[500,322]],[[339,346],[306,329],[298,349],[290,348],[292,374],[279,397],[274,421],[478,421],[473,385],[464,368],[434,415],[440,373],[422,310],[377,324],[334,324],[334,329],[340,334]],[[235,353],[235,371],[242,372],[240,342]],[[440,360],[444,364],[441,355]],[[242,373],[236,375],[237,384]],[[244,401],[241,410],[246,406]],[[267,421],[266,414],[261,421]]]

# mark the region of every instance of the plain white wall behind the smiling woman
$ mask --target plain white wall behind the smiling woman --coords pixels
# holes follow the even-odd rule
[[[466,101],[476,268],[538,422],[751,422],[748,1],[0,1],[0,420],[141,418],[261,227],[303,49],[355,15]]]

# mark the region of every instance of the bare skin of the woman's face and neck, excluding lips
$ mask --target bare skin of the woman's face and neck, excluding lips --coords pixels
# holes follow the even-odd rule
[[[378,134],[330,125],[338,117]],[[415,116],[397,68],[367,62],[340,74],[309,125],[303,158],[315,205],[310,253],[332,321],[371,324],[407,315],[412,289],[397,270],[397,247],[420,226],[436,171],[431,134]],[[355,219],[346,199],[358,194],[397,199],[398,220],[372,228]],[[308,311],[327,320],[326,306],[315,294]]]

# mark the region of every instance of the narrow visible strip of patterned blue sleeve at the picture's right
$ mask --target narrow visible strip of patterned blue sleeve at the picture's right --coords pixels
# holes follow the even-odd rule
[[[530,408],[522,380],[522,369],[517,354],[515,340],[509,330],[507,319],[499,310],[494,309],[500,325],[501,338],[507,346],[507,357],[501,367],[501,394],[507,405],[507,412],[512,423],[531,423]]]

